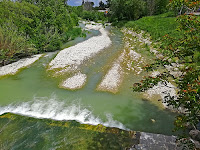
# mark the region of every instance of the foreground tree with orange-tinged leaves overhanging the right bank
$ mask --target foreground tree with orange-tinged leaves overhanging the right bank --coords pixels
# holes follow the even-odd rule
[[[175,10],[182,9],[182,6],[194,10],[199,4],[200,1],[196,0],[170,1],[170,6]],[[157,63],[147,66],[146,69],[153,71],[159,65],[178,63],[182,75],[174,77],[166,71],[155,78],[147,77],[142,83],[134,84],[133,91],[145,91],[158,82],[169,80],[168,77],[173,78],[179,90],[177,97],[170,95],[166,97],[167,103],[175,109],[180,107],[184,109],[184,113],[176,117],[176,129],[188,127],[197,129],[200,121],[200,18],[193,14],[184,14],[177,17],[177,22],[179,23],[178,31],[183,37],[176,39],[166,35],[163,41],[167,44],[162,46],[161,51],[165,59],[158,59]]]

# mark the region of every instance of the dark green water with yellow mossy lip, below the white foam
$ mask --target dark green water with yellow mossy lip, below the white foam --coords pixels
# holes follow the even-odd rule
[[[76,121],[0,116],[0,149],[128,149],[139,143],[136,132]],[[138,134],[139,135],[139,134]]]

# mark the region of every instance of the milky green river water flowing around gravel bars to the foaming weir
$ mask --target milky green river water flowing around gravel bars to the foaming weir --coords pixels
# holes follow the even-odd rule
[[[143,74],[138,76],[133,74],[127,75],[117,94],[96,91],[97,85],[110,67],[111,62],[119,55],[123,48],[122,33],[117,29],[111,29],[111,32],[112,46],[81,66],[82,72],[87,74],[88,80],[86,85],[80,90],[70,91],[61,89],[58,87],[58,84],[62,79],[49,76],[49,73],[46,71],[47,65],[57,52],[47,53],[36,63],[14,76],[0,78],[0,114],[11,112],[22,116],[43,118],[42,120],[46,120],[44,118],[76,120],[84,124],[103,124],[125,130],[172,135],[175,114],[158,108],[150,101],[142,100],[141,95],[133,93],[131,90],[132,84],[139,81]],[[98,32],[93,31],[90,36],[93,35],[98,35]],[[66,44],[65,47],[83,40],[85,39],[78,38]],[[155,122],[152,122],[151,119],[154,119]],[[21,139],[21,142],[23,141],[25,145],[26,142],[30,144],[30,141],[33,142],[32,144],[35,143],[37,145],[37,142],[41,142],[40,138],[38,140],[33,140],[32,138],[37,134],[43,135],[39,129],[42,128],[43,130],[44,125],[41,123],[34,125],[37,125],[37,130],[32,132],[26,132],[25,128],[28,128],[26,123],[16,124],[8,129],[5,127],[2,130],[7,132],[7,134],[3,134],[3,136],[6,139],[14,132],[18,132],[19,135],[21,133],[24,138],[26,137],[27,141]],[[0,133],[2,133],[2,130],[0,130]],[[50,143],[55,135],[59,137],[60,134],[60,138],[65,136],[63,135],[64,132],[57,131],[57,128],[55,128],[56,131],[52,130],[51,128],[51,132],[46,130],[44,132],[44,136],[48,137],[46,139],[47,143],[48,140]],[[77,135],[80,132],[73,130],[70,133],[70,131],[67,131],[67,133]],[[81,135],[82,133],[78,138],[84,137]],[[17,136],[14,137],[17,138]],[[73,139],[68,142],[72,141]],[[16,147],[16,145],[19,145],[19,141],[18,143],[10,143],[10,145],[12,144],[15,145],[13,149],[23,149],[22,147]],[[5,145],[3,146],[6,147]],[[35,147],[35,149],[40,149],[39,147]],[[49,147],[43,147],[43,149],[50,149],[50,147],[51,144]]]

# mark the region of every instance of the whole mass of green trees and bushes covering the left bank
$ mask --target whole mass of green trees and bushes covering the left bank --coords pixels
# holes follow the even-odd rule
[[[0,2],[0,64],[45,51],[81,34],[78,16],[62,0]]]

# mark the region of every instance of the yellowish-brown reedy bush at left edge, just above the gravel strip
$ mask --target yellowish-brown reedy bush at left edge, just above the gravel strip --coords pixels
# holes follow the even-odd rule
[[[36,53],[34,45],[27,42],[26,38],[19,35],[17,28],[12,24],[0,27],[0,65],[30,56]]]

